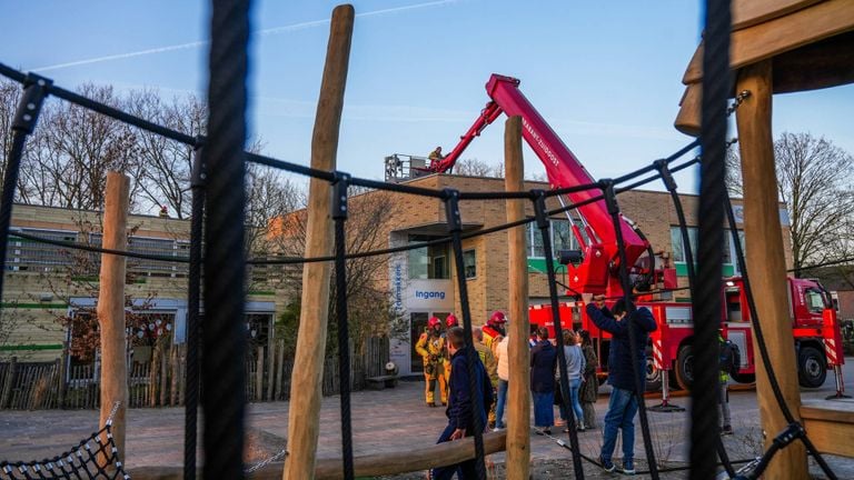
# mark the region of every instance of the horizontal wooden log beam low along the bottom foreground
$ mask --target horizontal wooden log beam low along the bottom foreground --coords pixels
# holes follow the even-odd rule
[[[486,453],[503,451],[505,443],[506,432],[504,431],[484,434],[484,451]],[[378,477],[427,470],[434,467],[459,463],[473,458],[475,458],[474,437],[467,437],[453,442],[436,443],[406,451],[357,456],[354,457],[352,463],[356,477]],[[274,462],[252,472],[248,478],[252,480],[279,479],[281,468],[281,462]],[[180,480],[183,478],[181,467],[140,467],[131,469],[128,473],[135,480]],[[199,469],[200,474],[201,469]],[[341,459],[318,459],[314,478],[317,480],[342,478]]]

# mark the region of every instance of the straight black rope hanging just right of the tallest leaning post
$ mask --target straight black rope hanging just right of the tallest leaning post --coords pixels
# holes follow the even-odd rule
[[[336,172],[332,183],[332,220],[335,220],[335,318],[338,322],[338,377],[341,394],[341,451],[344,478],[352,480],[352,421],[350,419],[350,348],[347,324],[347,187],[350,176]]]

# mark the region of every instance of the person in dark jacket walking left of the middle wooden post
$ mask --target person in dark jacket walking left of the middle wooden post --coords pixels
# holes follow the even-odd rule
[[[450,353],[450,381],[448,388],[448,408],[445,414],[448,417],[448,426],[439,436],[436,443],[458,440],[475,434],[475,414],[480,418],[480,428],[486,427],[486,408],[493,404],[493,384],[489,376],[480,361],[477,352],[475,356],[475,374],[479,392],[473,392],[468,382],[468,363],[466,357],[471,347],[466,346],[464,331],[459,327],[453,327],[447,332],[448,352]],[[479,398],[478,398],[479,397]],[[475,407],[477,406],[477,407]],[[433,469],[431,479],[446,480],[457,473],[459,480],[477,478],[475,460],[466,460],[461,463]]]

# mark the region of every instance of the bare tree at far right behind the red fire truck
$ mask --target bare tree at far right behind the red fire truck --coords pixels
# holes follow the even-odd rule
[[[785,132],[774,142],[777,188],[791,220],[796,274],[854,252],[854,158],[830,140]],[[727,156],[732,193],[742,192],[736,156]]]

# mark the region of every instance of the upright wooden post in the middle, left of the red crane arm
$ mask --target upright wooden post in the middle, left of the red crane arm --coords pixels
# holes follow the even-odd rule
[[[510,117],[504,131],[504,187],[525,189],[522,118]],[[507,200],[507,221],[525,218],[525,200]],[[510,378],[507,392],[507,479],[528,480],[530,470],[530,362],[528,360],[528,254],[525,227],[507,230],[509,250],[510,326],[507,350]]]

